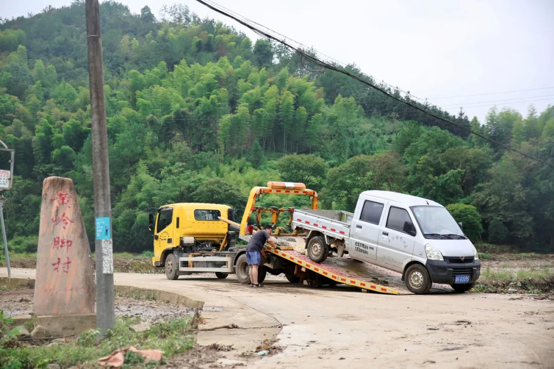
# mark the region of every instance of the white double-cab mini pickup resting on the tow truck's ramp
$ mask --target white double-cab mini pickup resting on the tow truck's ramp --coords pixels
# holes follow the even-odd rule
[[[473,288],[481,263],[460,224],[441,204],[390,191],[364,191],[354,213],[295,210],[293,229],[307,232],[310,259],[322,263],[329,252],[402,273],[416,294],[433,283],[455,291]]]

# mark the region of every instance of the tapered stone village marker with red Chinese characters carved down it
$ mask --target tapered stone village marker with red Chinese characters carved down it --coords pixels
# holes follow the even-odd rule
[[[48,177],[40,206],[33,314],[48,330],[74,334],[95,328],[94,307],[93,260],[73,181]]]

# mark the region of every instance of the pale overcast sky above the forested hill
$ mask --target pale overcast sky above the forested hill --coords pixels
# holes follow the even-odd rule
[[[0,1],[4,18],[71,3]],[[120,2],[133,13],[148,5],[156,16],[163,4],[175,3]],[[470,119],[484,122],[494,104],[524,116],[530,104],[538,111],[554,105],[554,0],[216,2],[451,112],[464,106]],[[201,18],[222,20],[256,38],[196,1],[183,3]],[[507,92],[516,90],[527,91]],[[446,98],[460,95],[475,96]]]

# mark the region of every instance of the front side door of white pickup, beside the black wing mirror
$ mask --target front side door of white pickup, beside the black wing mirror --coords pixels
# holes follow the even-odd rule
[[[397,271],[402,271],[402,265],[412,259],[416,237],[413,220],[408,209],[398,205],[389,205],[387,218],[381,227],[377,259],[380,264]],[[412,233],[412,234],[410,234]]]

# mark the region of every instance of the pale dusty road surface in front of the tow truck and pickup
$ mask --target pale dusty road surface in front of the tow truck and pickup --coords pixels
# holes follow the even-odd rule
[[[34,277],[29,269],[12,273]],[[0,275],[6,275],[5,268]],[[198,334],[199,344],[234,345],[228,363],[246,360],[244,352],[275,337],[283,351],[262,357],[255,366],[554,368],[552,300],[476,293],[364,294],[281,281],[255,289],[238,284],[234,276],[170,281],[158,274],[116,273],[115,283],[204,301],[201,329],[238,325],[240,329]]]

